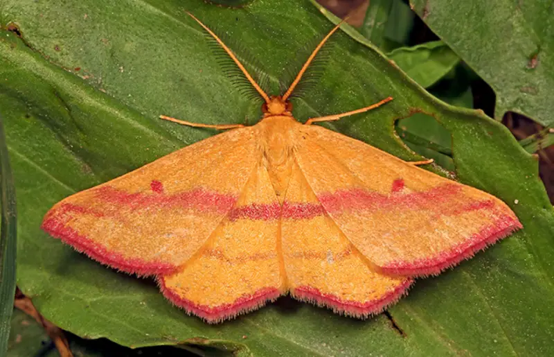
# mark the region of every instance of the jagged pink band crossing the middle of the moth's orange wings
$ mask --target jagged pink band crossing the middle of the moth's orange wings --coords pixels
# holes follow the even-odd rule
[[[128,193],[111,186],[102,186],[93,191],[98,200],[122,204],[131,209],[146,209],[153,207],[178,207],[184,209],[197,209],[199,211],[215,211],[220,214],[229,212],[230,220],[274,220],[274,219],[310,219],[325,214],[341,214],[345,211],[383,211],[396,207],[402,209],[440,209],[437,203],[450,200],[461,191],[461,186],[445,184],[436,186],[428,191],[420,191],[402,194],[404,181],[396,180],[393,183],[393,193],[384,195],[381,193],[365,191],[363,189],[339,190],[334,193],[322,193],[318,196],[319,202],[283,202],[280,207],[278,202],[269,204],[247,204],[234,207],[236,198],[233,195],[208,191],[198,188],[191,191],[168,195],[164,193],[163,184],[152,181],[150,186],[154,193]],[[492,200],[470,202],[465,207],[454,208],[452,214],[461,214],[465,211],[489,209],[494,206]],[[438,212],[445,213],[446,211]]]

